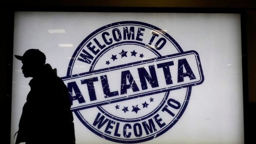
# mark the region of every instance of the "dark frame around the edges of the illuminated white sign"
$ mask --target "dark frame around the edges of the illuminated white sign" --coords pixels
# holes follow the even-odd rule
[[[160,7],[14,7],[4,8],[7,14],[7,21],[3,25],[4,34],[7,39],[7,45],[4,48],[5,53],[5,72],[6,72],[6,93],[4,93],[5,118],[2,123],[2,130],[5,135],[3,142],[10,143],[11,134],[11,90],[12,90],[12,58],[13,58],[13,26],[15,11],[65,11],[65,12],[176,12],[176,13],[239,13],[241,14],[241,38],[242,38],[242,66],[243,66],[243,96],[244,96],[244,132],[245,143],[249,143],[249,101],[248,101],[248,69],[247,69],[247,44],[246,44],[246,9],[236,8],[160,8]]]

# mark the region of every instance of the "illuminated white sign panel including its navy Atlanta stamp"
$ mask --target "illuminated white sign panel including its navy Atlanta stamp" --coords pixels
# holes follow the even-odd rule
[[[244,141],[239,14],[16,12],[13,53],[30,48],[66,84],[78,144]],[[30,90],[20,68],[11,134]]]

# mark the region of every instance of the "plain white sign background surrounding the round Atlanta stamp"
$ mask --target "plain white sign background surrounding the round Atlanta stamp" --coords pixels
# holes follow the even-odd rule
[[[63,77],[82,40],[118,21],[140,21],[166,30],[183,51],[199,53],[203,68],[204,82],[192,87],[181,119],[166,133],[143,143],[244,143],[240,14],[15,12],[13,54],[39,49]],[[21,67],[13,56],[11,144],[30,91],[31,78],[23,76]],[[115,143],[89,131],[75,114],[74,123],[76,144]]]

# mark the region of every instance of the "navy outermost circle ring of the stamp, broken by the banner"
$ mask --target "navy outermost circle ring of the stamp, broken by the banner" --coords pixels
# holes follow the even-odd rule
[[[75,52],[74,52],[74,54],[72,56],[72,57],[74,57],[74,59],[71,59],[70,63],[69,63],[69,67],[68,67],[68,70],[67,70],[67,76],[71,76],[72,75],[72,70],[73,70],[73,66],[74,66],[74,63],[75,63],[75,59],[78,56],[79,52],[82,50],[84,44],[88,40],[90,40],[91,37],[93,37],[94,35],[96,35],[100,31],[103,31],[105,29],[109,29],[109,28],[112,28],[113,26],[125,25],[125,24],[126,25],[127,24],[130,24],[130,25],[141,25],[141,26],[146,26],[148,28],[151,28],[152,30],[162,31],[160,28],[158,28],[156,26],[153,26],[153,25],[150,25],[150,24],[147,24],[147,23],[143,23],[143,22],[138,22],[138,21],[122,21],[122,22],[116,22],[116,23],[112,23],[112,24],[103,26],[103,27],[97,29],[96,31],[92,32],[91,34],[89,34],[79,44],[79,46],[76,48],[76,50],[75,50]],[[178,52],[181,52],[181,53],[183,52],[183,50],[181,49],[180,45],[168,33],[164,33],[163,35],[165,35],[173,43],[173,45],[176,47]],[[186,98],[184,100],[184,103],[182,104],[182,108],[181,108],[180,112],[177,114],[177,116],[174,118],[174,120],[171,121],[169,124],[167,124],[167,126],[164,127],[163,129],[161,129],[158,133],[156,133],[156,134],[154,134],[152,136],[149,136],[149,137],[145,137],[145,138],[137,138],[137,139],[129,140],[129,139],[117,139],[115,137],[110,137],[108,135],[104,135],[103,133],[101,133],[101,132],[97,131],[96,129],[94,129],[85,120],[85,118],[82,116],[82,114],[79,111],[74,111],[74,113],[77,116],[77,118],[84,124],[85,127],[87,127],[94,134],[97,134],[98,136],[103,137],[103,138],[105,138],[107,140],[114,141],[114,142],[119,142],[119,143],[139,143],[139,142],[145,142],[145,141],[151,140],[153,138],[156,138],[156,137],[160,136],[161,134],[164,134],[166,131],[168,131],[170,128],[172,128],[176,124],[176,122],[180,119],[180,117],[182,116],[182,114],[184,113],[184,111],[185,111],[185,109],[186,109],[186,107],[188,105],[190,94],[191,94],[191,90],[192,90],[191,86],[187,88]]]

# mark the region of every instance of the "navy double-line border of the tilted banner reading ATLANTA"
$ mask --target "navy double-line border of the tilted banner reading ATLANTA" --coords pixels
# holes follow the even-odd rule
[[[92,103],[92,104],[88,104],[88,105],[78,106],[78,107],[71,108],[71,111],[88,109],[88,108],[92,108],[92,107],[96,107],[96,106],[101,106],[101,105],[106,105],[106,104],[110,104],[110,103],[116,103],[116,102],[119,102],[119,101],[134,99],[134,98],[137,98],[137,97],[143,97],[143,96],[147,96],[147,95],[163,93],[163,92],[167,92],[167,91],[173,91],[173,90],[177,90],[177,89],[182,89],[182,88],[187,88],[187,87],[191,87],[191,86],[195,86],[195,85],[200,85],[204,81],[204,76],[203,76],[203,70],[202,70],[199,54],[196,51],[185,51],[185,52],[182,52],[182,53],[175,53],[175,54],[161,56],[161,57],[157,57],[157,58],[142,60],[142,61],[138,61],[138,62],[134,62],[134,63],[128,63],[128,64],[118,65],[118,66],[109,67],[109,68],[105,68],[105,69],[99,69],[99,70],[95,70],[95,71],[92,71],[92,72],[84,72],[84,73],[80,73],[80,74],[74,74],[72,76],[61,77],[61,79],[63,81],[66,81],[66,80],[71,80],[71,79],[75,79],[75,78],[80,78],[80,77],[84,77],[84,76],[89,76],[89,75],[93,75],[93,74],[102,73],[102,72],[110,72],[110,71],[119,70],[119,69],[123,69],[123,68],[127,68],[127,67],[133,67],[133,66],[137,66],[137,65],[142,65],[142,64],[147,64],[147,63],[160,61],[160,60],[163,60],[163,59],[170,59],[170,58],[175,58],[175,57],[180,57],[180,56],[190,55],[190,54],[195,55],[195,58],[196,58],[196,61],[197,61],[197,67],[198,67],[199,74],[200,74],[200,80],[199,81],[186,83],[186,84],[182,84],[182,85],[176,85],[176,86],[172,86],[172,87],[166,87],[166,88],[162,88],[162,89],[159,89],[159,90],[154,90],[154,91],[149,91],[149,92],[144,92],[144,93],[122,96],[122,97],[118,97],[118,98],[115,98],[115,99],[96,102],[96,103]]]

